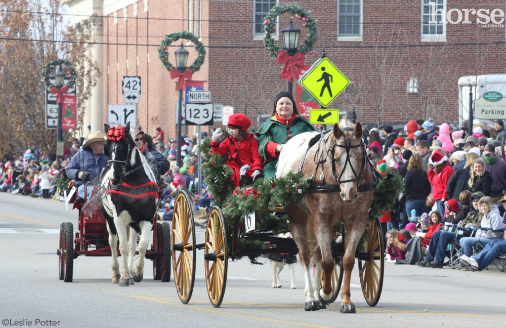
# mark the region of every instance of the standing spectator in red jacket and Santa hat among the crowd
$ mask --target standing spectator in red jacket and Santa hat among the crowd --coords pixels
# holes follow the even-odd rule
[[[429,168],[429,170],[427,170],[427,175],[429,176],[429,181],[432,185],[432,197],[436,201],[439,214],[443,217],[444,202],[447,198],[446,186],[448,185],[448,180],[453,174],[453,169],[448,162],[448,157],[443,155],[441,149],[436,149],[432,153],[427,167]]]

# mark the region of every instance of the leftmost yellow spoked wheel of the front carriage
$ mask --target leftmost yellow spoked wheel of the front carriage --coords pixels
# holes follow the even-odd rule
[[[187,304],[195,283],[195,222],[188,194],[181,190],[172,216],[172,266],[179,299]]]

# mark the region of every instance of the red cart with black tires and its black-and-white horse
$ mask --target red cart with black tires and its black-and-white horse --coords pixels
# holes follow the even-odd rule
[[[154,178],[149,176],[150,170],[147,169],[142,154],[135,150],[132,136],[129,135],[130,127],[121,129],[121,138],[114,141],[109,138],[106,142],[106,152],[109,152],[109,158],[112,159],[98,179],[99,186],[83,184],[81,188],[84,188],[85,198],[77,197],[75,189],[72,196],[68,197],[73,209],[78,210],[78,231],[74,237],[71,222],[60,225],[58,275],[66,282],[72,281],[73,260],[81,255],[112,256],[112,281],[119,282],[120,285],[142,280],[144,258],[153,261],[155,280],[171,280],[171,226],[168,222],[157,222],[156,214],[162,188],[158,189]],[[106,126],[106,133],[108,130],[109,127]],[[116,144],[113,145],[114,143]],[[128,166],[132,170],[127,171]],[[145,170],[140,170],[142,168]],[[91,199],[86,199],[89,188],[93,188],[93,193]],[[125,215],[129,217],[128,220],[132,217],[131,223],[122,223],[125,220],[121,216]],[[153,242],[148,249],[151,231]],[[137,238],[139,234],[140,240]],[[128,249],[121,250],[122,244],[128,246]],[[120,255],[124,257],[121,279],[117,263],[117,256]],[[140,256],[137,274],[133,269],[135,255]],[[128,265],[125,258],[129,260]],[[129,272],[126,271],[126,266]]]

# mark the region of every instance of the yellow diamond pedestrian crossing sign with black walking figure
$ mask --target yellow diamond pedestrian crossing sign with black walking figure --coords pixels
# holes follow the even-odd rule
[[[299,79],[301,87],[323,107],[327,107],[349,83],[348,78],[326,57],[317,60]]]

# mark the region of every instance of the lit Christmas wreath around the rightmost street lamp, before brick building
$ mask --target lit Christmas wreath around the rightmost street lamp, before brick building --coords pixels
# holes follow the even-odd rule
[[[304,44],[297,48],[296,53],[313,53],[313,47],[317,40],[318,28],[316,27],[316,19],[311,17],[311,11],[306,11],[296,5],[283,5],[272,7],[269,14],[264,18],[264,45],[265,50],[271,57],[277,57],[280,50],[275,44],[271,33],[276,30],[276,18],[279,15],[290,14],[296,16],[304,22],[304,26],[308,30],[308,36],[304,40]],[[284,51],[288,49],[283,48]]]

